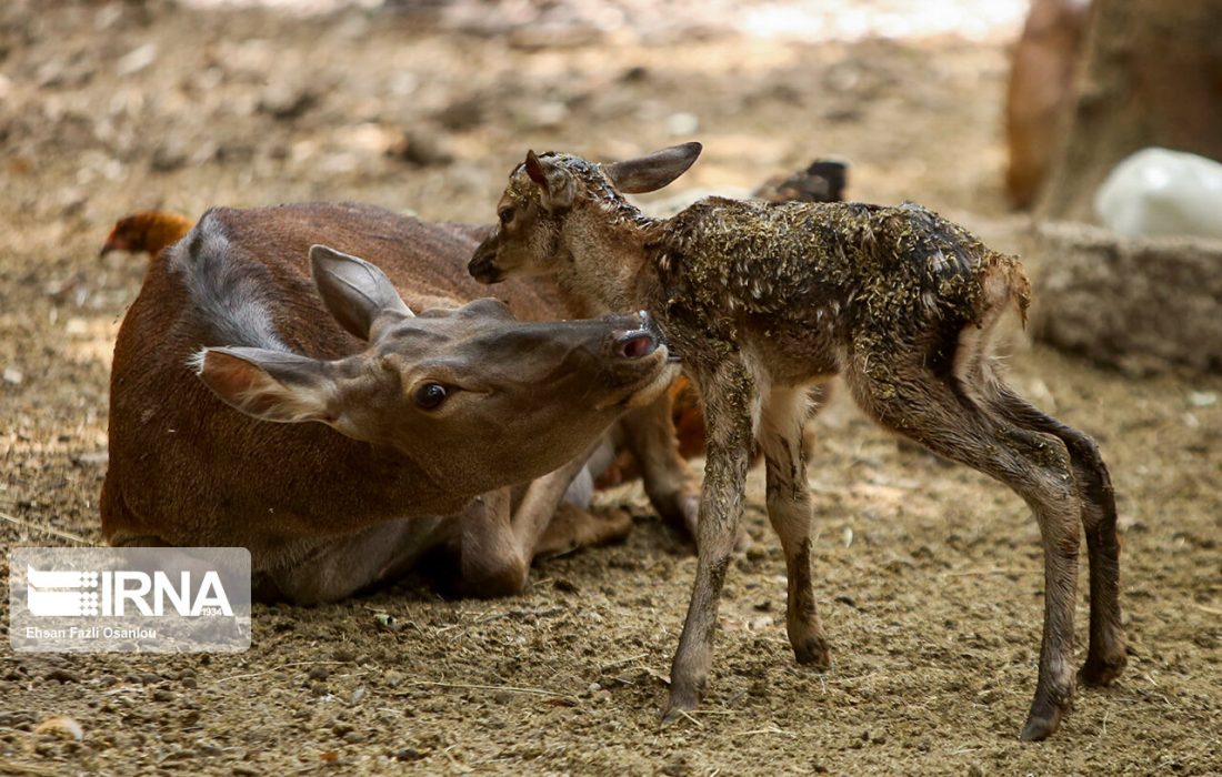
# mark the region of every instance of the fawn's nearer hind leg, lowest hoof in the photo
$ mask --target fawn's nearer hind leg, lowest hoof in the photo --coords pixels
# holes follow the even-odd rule
[[[1015,426],[956,391],[919,359],[864,353],[844,371],[858,403],[885,426],[1008,485],[1035,513],[1044,545],[1044,639],[1023,739],[1057,729],[1073,700],[1073,617],[1081,506],[1069,453],[1056,436]],[[871,376],[869,365],[890,371]],[[902,374],[897,370],[902,369]],[[897,375],[899,375],[897,378]]]

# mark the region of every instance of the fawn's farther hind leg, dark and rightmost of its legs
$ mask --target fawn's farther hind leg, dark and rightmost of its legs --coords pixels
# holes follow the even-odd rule
[[[1078,672],[1088,685],[1107,685],[1128,661],[1121,626],[1121,545],[1116,535],[1116,492],[1099,447],[1089,435],[1068,426],[996,384],[990,403],[1012,423],[1061,439],[1069,451],[1090,561],[1090,646]]]

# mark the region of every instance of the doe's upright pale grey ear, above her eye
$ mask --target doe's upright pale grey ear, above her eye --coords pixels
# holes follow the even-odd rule
[[[374,325],[382,316],[398,320],[413,315],[390,279],[364,259],[326,246],[310,246],[309,268],[323,304],[343,329],[360,340],[370,340]]]

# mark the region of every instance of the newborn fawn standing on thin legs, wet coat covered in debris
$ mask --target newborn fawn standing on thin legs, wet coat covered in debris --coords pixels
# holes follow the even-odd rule
[[[765,454],[769,519],[785,551],[789,643],[799,663],[830,668],[811,584],[802,429],[808,387],[840,374],[884,426],[1001,480],[1035,513],[1045,619],[1022,735],[1047,737],[1074,691],[1081,525],[1090,648],[1079,676],[1112,682],[1125,651],[1107,468],[1090,437],[1006,386],[991,356],[998,320],[1028,304],[1018,261],[913,204],[709,198],[653,220],[621,195],[666,186],[699,151],[689,143],[605,166],[529,153],[497,205],[500,227],[470,261],[484,282],[554,274],[606,310],[654,312],[704,396],[699,561],[665,717],[693,709],[705,688],[754,440]]]

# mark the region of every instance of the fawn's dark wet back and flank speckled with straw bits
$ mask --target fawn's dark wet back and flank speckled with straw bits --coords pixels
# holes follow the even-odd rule
[[[662,291],[688,315],[901,330],[979,315],[982,279],[1011,265],[919,205],[710,198],[651,243]]]

